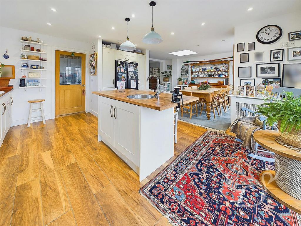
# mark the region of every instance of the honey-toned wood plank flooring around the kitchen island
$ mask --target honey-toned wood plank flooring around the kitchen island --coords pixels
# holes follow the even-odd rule
[[[0,148],[0,225],[170,225],[138,190],[205,131],[179,121],[174,156],[140,183],[97,141],[90,113],[12,127]]]

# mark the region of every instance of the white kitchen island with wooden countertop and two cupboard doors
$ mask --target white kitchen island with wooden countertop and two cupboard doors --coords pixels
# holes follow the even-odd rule
[[[135,89],[95,91],[98,95],[98,141],[103,141],[138,175],[140,181],[173,154],[174,107],[171,93],[159,99],[129,99],[154,92]],[[183,96],[183,102],[198,97]]]

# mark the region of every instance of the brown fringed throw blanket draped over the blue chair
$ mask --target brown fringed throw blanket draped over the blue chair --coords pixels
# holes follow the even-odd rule
[[[263,126],[257,126],[255,117],[240,117],[237,118],[229,127],[231,132],[235,133],[237,138],[243,141],[242,146],[248,149],[251,153],[256,154],[256,142],[253,139],[255,131],[260,130]]]

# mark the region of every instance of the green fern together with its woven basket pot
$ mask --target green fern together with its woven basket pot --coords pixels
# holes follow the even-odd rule
[[[301,152],[301,96],[285,92],[285,98],[273,99],[258,106],[258,113],[266,116],[267,124],[278,124],[279,136],[276,141],[296,147]],[[295,148],[294,148],[295,149]]]

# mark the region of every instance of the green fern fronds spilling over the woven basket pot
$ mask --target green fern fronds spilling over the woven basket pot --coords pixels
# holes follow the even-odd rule
[[[275,122],[280,122],[281,132],[290,132],[301,129],[301,96],[295,97],[292,92],[285,92],[285,98],[280,99],[265,99],[265,103],[258,105],[257,112],[267,117],[267,124],[273,125]]]

